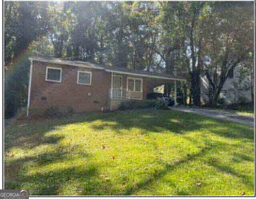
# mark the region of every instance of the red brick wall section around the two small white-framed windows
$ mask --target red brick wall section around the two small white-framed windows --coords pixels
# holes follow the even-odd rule
[[[62,68],[62,82],[45,81],[46,66]],[[77,71],[91,71],[91,85],[77,84]],[[30,109],[71,106],[75,112],[105,108],[111,87],[111,73],[100,69],[33,61]],[[91,96],[88,95],[91,93]]]

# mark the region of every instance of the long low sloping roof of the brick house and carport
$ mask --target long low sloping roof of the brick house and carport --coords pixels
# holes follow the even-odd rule
[[[128,69],[128,68],[124,68],[124,67],[97,65],[97,64],[83,62],[83,61],[69,61],[69,60],[64,60],[64,59],[54,59],[54,58],[44,58],[44,57],[30,57],[29,60],[41,61],[41,62],[46,62],[46,63],[55,63],[55,64],[61,64],[61,65],[71,65],[71,66],[78,66],[78,67],[85,67],[85,68],[102,69],[102,70],[105,70],[107,72],[112,72],[112,73],[120,73],[120,74],[142,76],[142,77],[151,77],[151,78],[157,78],[157,79],[185,80],[184,77],[177,77],[177,76],[168,75],[165,73],[153,73],[153,72],[149,72],[149,71]]]

